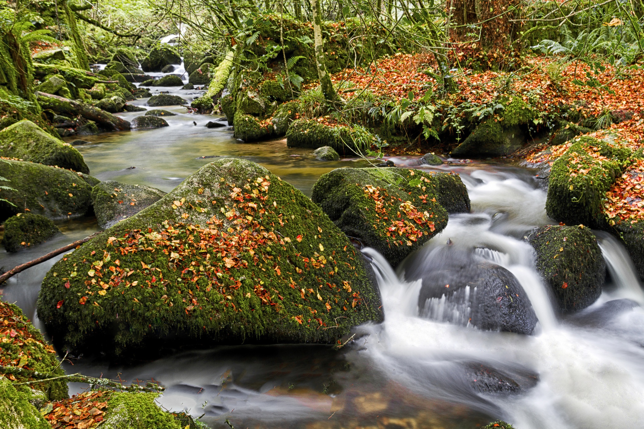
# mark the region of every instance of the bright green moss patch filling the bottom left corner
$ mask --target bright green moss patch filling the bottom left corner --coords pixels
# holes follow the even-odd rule
[[[18,392],[8,379],[0,377],[0,426],[5,429],[50,429],[29,399],[28,394]]]

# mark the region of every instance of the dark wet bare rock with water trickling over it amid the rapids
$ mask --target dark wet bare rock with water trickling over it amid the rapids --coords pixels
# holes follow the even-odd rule
[[[468,250],[447,246],[434,251],[430,265],[405,267],[406,280],[422,278],[421,317],[484,331],[533,333],[535,311],[510,271],[477,260]]]

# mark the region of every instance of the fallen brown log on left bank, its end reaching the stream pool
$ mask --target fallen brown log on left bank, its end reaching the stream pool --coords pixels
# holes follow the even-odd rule
[[[100,127],[109,131],[123,131],[130,129],[128,121],[118,118],[118,116],[114,116],[109,112],[98,109],[91,104],[38,91],[36,91],[35,95],[38,97],[38,101],[41,106],[43,106],[43,109],[51,109],[61,114],[71,114],[74,116],[80,115],[83,118],[98,123]]]

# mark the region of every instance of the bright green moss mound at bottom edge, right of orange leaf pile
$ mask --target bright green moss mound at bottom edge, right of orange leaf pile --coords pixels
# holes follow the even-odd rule
[[[157,393],[113,392],[101,429],[182,429],[155,403]]]

